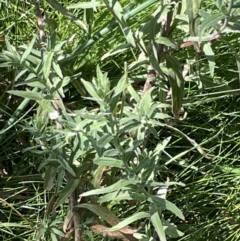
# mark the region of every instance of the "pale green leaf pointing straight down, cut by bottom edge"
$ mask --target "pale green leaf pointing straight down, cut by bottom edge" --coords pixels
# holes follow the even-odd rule
[[[167,241],[162,221],[159,217],[158,208],[155,204],[150,204],[150,220],[161,241]]]

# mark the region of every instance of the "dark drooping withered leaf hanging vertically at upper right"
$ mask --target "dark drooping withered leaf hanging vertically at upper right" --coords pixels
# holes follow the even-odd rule
[[[183,101],[184,79],[178,60],[171,55],[166,55],[165,58],[168,68],[168,79],[172,88],[172,112],[175,118],[179,119]]]

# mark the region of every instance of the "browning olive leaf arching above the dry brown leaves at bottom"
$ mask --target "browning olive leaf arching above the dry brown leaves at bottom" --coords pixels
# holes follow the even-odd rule
[[[86,208],[91,212],[95,213],[97,216],[101,217],[110,225],[116,225],[119,223],[118,217],[111,212],[108,208],[97,205],[97,204],[90,204],[90,203],[82,203],[75,206],[76,208]]]

